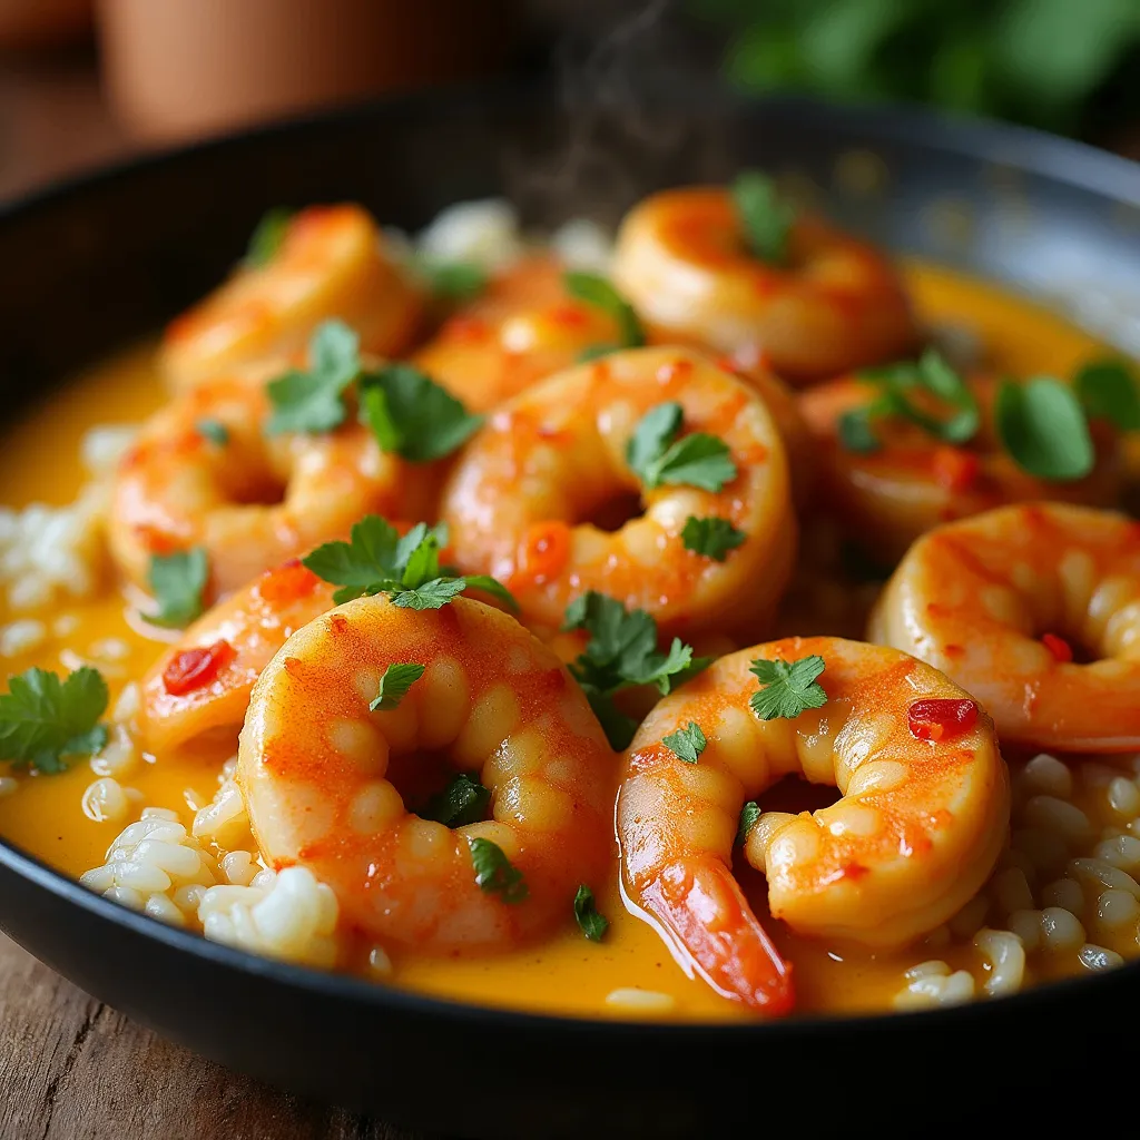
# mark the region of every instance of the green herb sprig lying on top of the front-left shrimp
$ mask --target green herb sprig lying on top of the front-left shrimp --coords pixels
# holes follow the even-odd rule
[[[440,565],[447,545],[442,523],[416,523],[401,538],[391,523],[369,514],[349,538],[325,543],[301,560],[318,578],[341,587],[333,594],[337,605],[365,594],[388,594],[402,609],[438,610],[464,591],[478,589],[518,609],[511,592],[490,575],[458,576]]]

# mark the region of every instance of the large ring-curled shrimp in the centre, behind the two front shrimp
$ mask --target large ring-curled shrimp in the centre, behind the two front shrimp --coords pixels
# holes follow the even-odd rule
[[[727,445],[736,474],[722,490],[649,488],[630,469],[638,421],[670,401],[685,430]],[[548,628],[593,589],[648,611],[666,634],[748,629],[768,619],[796,551],[788,464],[767,408],[676,348],[616,352],[504,405],[461,455],[441,513],[459,568],[506,581],[523,619]],[[740,545],[723,562],[686,548],[692,518],[726,520]]]

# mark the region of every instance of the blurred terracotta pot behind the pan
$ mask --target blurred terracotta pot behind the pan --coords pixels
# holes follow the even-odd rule
[[[508,57],[512,0],[99,0],[108,92],[147,138],[209,133]]]

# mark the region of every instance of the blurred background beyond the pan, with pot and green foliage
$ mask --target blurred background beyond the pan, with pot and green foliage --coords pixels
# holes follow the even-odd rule
[[[0,198],[372,95],[553,72],[903,100],[1140,156],[1140,0],[0,0]]]

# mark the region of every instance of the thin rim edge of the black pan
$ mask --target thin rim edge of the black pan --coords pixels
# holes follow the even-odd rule
[[[408,111],[431,113],[433,108],[454,109],[456,99],[472,100],[480,106],[506,104],[520,93],[551,101],[553,85],[547,81],[518,80],[506,82],[457,84],[427,91],[412,91],[381,99],[326,108],[173,147],[164,147],[131,158],[65,177],[32,193],[0,205],[0,226],[17,226],[25,218],[68,198],[113,187],[123,179],[162,169],[177,169],[199,156],[225,154],[278,136],[319,131],[353,122],[383,122]],[[797,122],[813,129],[841,128],[868,145],[894,144],[926,150],[948,152],[977,163],[993,163],[1020,172],[1036,174],[1053,182],[1076,187],[1117,203],[1140,207],[1140,163],[1109,154],[1088,144],[1059,138],[1044,131],[986,119],[967,119],[925,107],[902,104],[828,104],[799,95],[769,95],[748,99],[700,87],[685,92],[686,100],[699,98],[701,106],[723,111],[733,107],[743,114],[749,108],[773,114],[795,115]],[[679,98],[676,90],[669,98]],[[221,943],[210,942],[198,934],[168,926],[147,914],[132,911],[81,886],[44,861],[0,837],[0,866],[48,891],[56,898],[88,914],[122,927],[132,935],[154,939],[177,953],[195,955],[210,964],[259,977],[286,987],[306,990],[312,996],[363,1003],[377,1011],[392,1010],[451,1023],[481,1023],[494,1027],[549,1034],[570,1035],[604,1033],[619,1037],[660,1035],[668,1045],[717,1042],[740,1043],[795,1036],[800,1033],[883,1033],[904,1029],[966,1029],[978,1019],[1016,1016],[1018,1010],[1043,1002],[1080,1001],[1094,987],[1107,991],[1122,980],[1140,984],[1140,959],[1113,970],[1089,972],[1042,983],[1000,999],[977,997],[958,1005],[935,1009],[881,1012],[803,1013],[790,1018],[765,1020],[624,1020],[578,1016],[576,1013],[530,1012],[497,1004],[474,1004],[401,990],[382,982],[364,980],[348,974],[296,966],[278,959],[263,958]],[[2,929],[2,927],[0,927]],[[1123,977],[1122,977],[1123,976]]]

